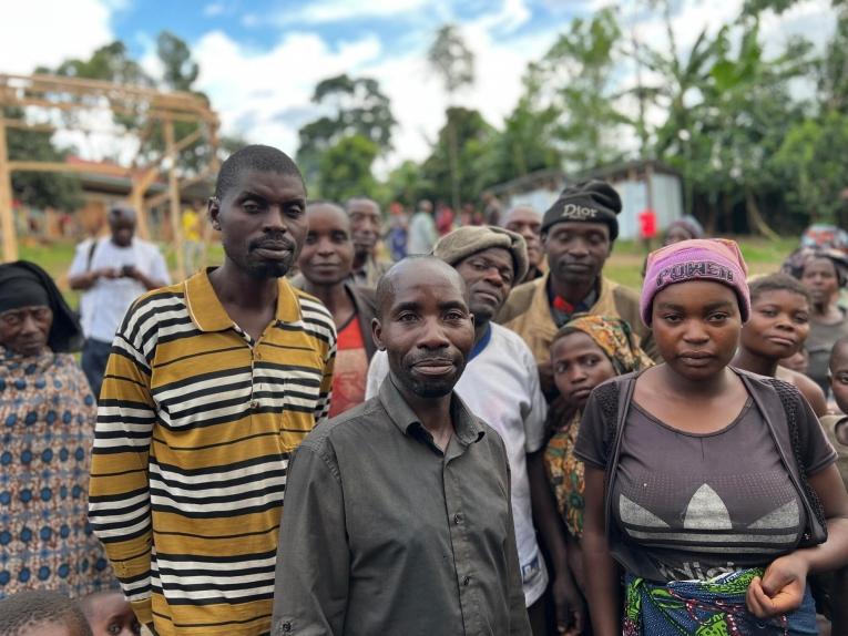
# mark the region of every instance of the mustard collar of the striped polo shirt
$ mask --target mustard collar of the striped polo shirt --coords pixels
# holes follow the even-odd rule
[[[215,268],[202,269],[183,284],[188,314],[201,331],[224,331],[235,327],[235,322],[212,287],[210,273],[213,269]],[[276,321],[296,322],[300,319],[300,304],[297,301],[297,295],[285,277],[279,278],[277,285]]]

